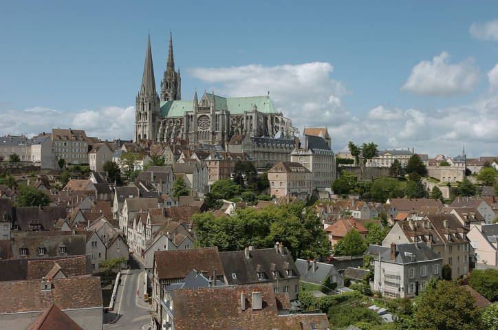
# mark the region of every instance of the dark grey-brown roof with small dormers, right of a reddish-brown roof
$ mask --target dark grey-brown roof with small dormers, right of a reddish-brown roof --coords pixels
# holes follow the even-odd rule
[[[283,251],[284,253],[280,254],[274,248],[249,250],[249,259],[246,258],[245,251],[221,252],[219,256],[228,284],[241,285],[299,276],[292,255],[285,247]],[[294,274],[288,276],[288,270],[292,270]],[[263,272],[265,279],[260,280],[257,272]],[[275,277],[272,272],[279,272],[279,277]],[[232,274],[236,274],[236,278],[233,278]]]

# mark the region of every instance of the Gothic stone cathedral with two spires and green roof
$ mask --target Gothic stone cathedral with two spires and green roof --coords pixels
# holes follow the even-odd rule
[[[182,100],[180,69],[175,71],[173,38],[170,34],[168,61],[155,88],[151,39],[147,41],[142,85],[136,98],[135,136],[133,140],[189,144],[224,144],[232,135],[251,137],[293,137],[296,128],[275,108],[270,96],[224,98],[206,93],[193,100]]]

